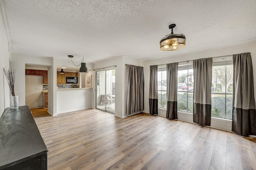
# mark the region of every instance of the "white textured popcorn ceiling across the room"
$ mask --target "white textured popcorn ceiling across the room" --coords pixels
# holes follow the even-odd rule
[[[151,59],[256,39],[256,0],[5,0],[12,52],[94,63]],[[185,34],[186,47],[160,39]]]

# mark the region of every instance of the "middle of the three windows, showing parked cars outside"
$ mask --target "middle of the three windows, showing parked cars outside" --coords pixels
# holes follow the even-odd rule
[[[181,62],[178,65],[178,111],[193,112],[193,90],[193,62]]]

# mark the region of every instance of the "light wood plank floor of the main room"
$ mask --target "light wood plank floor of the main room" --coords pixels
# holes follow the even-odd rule
[[[145,113],[121,119],[96,109],[35,120],[49,170],[256,170],[256,143],[232,132]]]

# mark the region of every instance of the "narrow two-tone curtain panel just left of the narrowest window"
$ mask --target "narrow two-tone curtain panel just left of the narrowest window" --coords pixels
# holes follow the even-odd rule
[[[158,83],[157,83],[157,65],[150,65],[149,80],[149,113],[158,115]]]

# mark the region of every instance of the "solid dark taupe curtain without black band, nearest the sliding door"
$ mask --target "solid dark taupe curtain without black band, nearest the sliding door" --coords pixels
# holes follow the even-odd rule
[[[127,115],[144,110],[143,67],[127,65]]]

